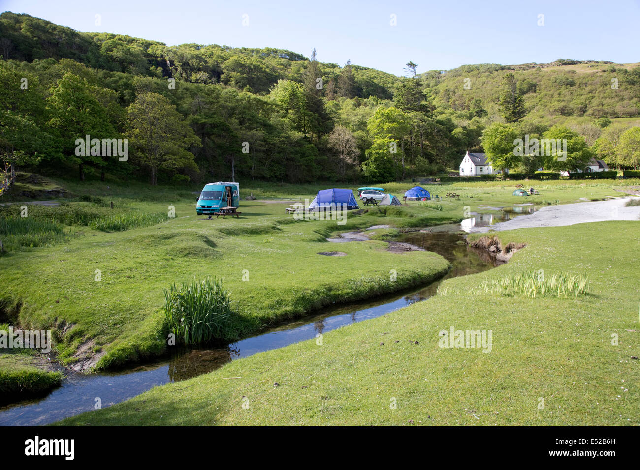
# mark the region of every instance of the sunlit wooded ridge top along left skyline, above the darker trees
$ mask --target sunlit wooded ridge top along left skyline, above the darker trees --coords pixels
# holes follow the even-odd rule
[[[173,77],[195,83],[228,84],[250,93],[269,93],[279,79],[301,81],[308,58],[284,49],[225,45],[166,44],[109,33],[79,33],[46,20],[4,12],[0,15],[0,54],[4,59],[72,59],[88,67],[150,77]],[[340,73],[337,64],[322,63],[329,83]],[[399,77],[353,66],[358,96],[393,97]]]

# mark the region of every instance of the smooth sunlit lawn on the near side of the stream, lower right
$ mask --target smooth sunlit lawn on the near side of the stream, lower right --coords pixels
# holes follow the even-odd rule
[[[639,425],[637,223],[497,236],[527,245],[497,269],[445,281],[428,301],[61,423]],[[583,274],[588,292],[483,288],[531,270]],[[492,331],[490,352],[441,348],[451,327]]]

